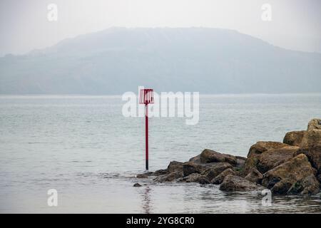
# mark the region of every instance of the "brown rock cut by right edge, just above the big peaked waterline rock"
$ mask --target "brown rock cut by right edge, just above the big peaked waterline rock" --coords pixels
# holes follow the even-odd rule
[[[321,174],[321,142],[317,145],[301,147],[297,150],[297,155],[300,154],[307,155],[312,167],[317,170],[318,174]]]

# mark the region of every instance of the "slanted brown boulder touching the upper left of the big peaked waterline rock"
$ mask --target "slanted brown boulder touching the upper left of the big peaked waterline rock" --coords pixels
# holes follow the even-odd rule
[[[263,152],[260,157],[258,157],[257,169],[261,173],[265,173],[268,170],[280,165],[292,157],[295,157],[297,150],[300,147],[297,146],[287,146],[278,149],[271,149]]]

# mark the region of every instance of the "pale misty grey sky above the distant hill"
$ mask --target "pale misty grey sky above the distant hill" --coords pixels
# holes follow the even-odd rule
[[[58,21],[47,19],[51,3]],[[272,21],[261,19],[266,3]],[[321,52],[319,0],[1,0],[0,56],[113,26],[230,28],[276,46]]]

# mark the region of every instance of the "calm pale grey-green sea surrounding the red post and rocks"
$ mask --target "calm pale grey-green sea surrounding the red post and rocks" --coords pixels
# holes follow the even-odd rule
[[[320,195],[225,193],[218,186],[136,180],[144,169],[144,119],[124,118],[118,96],[0,96],[0,212],[321,212]],[[208,95],[198,125],[150,119],[150,169],[204,148],[246,156],[321,117],[321,95]],[[133,187],[140,182],[143,187]],[[47,191],[58,191],[58,207]]]

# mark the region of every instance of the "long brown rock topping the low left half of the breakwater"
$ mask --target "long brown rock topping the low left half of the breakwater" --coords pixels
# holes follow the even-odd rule
[[[233,155],[225,155],[214,150],[205,149],[200,153],[200,162],[201,163],[210,163],[210,162],[228,162],[231,165],[237,164],[237,159]]]

